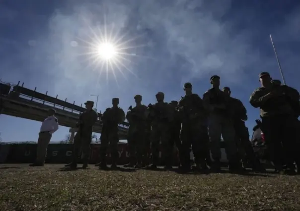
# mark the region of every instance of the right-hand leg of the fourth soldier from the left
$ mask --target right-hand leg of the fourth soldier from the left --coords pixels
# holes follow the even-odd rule
[[[173,147],[170,145],[170,130],[169,125],[165,124],[160,135],[162,158],[165,168],[172,168]]]

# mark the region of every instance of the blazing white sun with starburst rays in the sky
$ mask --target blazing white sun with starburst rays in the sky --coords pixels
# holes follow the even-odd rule
[[[80,55],[84,56],[85,70],[92,69],[99,73],[97,85],[102,80],[103,72],[106,73],[106,83],[111,75],[118,86],[118,74],[125,80],[128,72],[138,78],[132,70],[135,63],[133,57],[139,57],[136,53],[137,48],[146,46],[135,45],[137,39],[144,34],[128,39],[129,32],[122,33],[121,29],[115,29],[114,24],[108,25],[106,21],[97,27],[88,26],[88,29],[85,38],[77,37],[77,39],[81,41],[80,46],[84,49]]]

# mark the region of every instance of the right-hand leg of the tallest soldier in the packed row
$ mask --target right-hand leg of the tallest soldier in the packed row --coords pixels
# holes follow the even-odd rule
[[[235,141],[235,130],[231,119],[225,119],[222,124],[222,137],[226,143],[226,156],[230,169],[241,168],[240,159]]]

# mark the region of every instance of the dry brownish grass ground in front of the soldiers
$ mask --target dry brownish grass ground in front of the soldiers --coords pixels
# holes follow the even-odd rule
[[[0,211],[300,210],[300,177],[0,165]]]

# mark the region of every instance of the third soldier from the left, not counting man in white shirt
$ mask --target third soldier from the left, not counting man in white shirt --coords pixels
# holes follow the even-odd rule
[[[128,148],[130,154],[130,163],[124,167],[141,168],[145,163],[145,133],[146,133],[146,116],[147,106],[142,105],[142,96],[135,96],[136,106],[129,107],[126,118],[129,122],[128,129]]]

